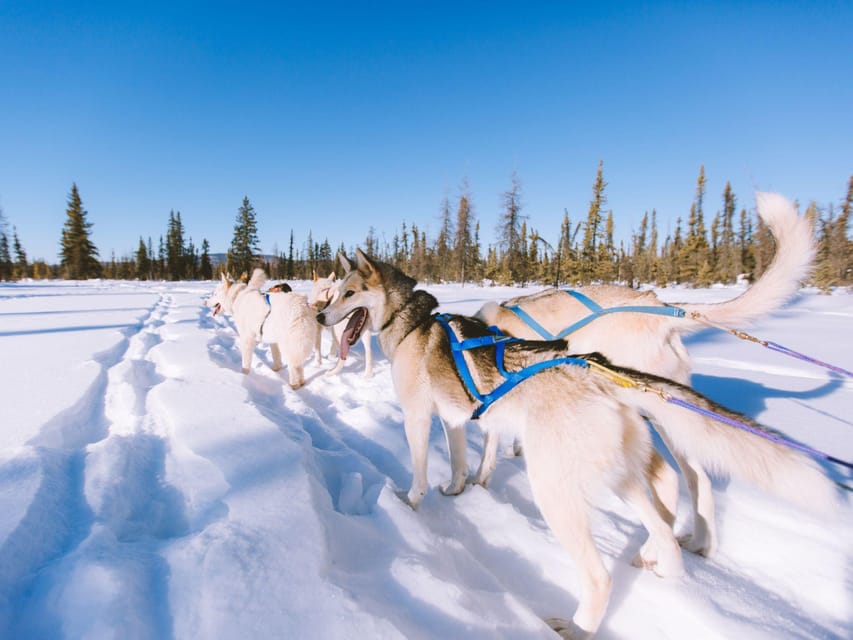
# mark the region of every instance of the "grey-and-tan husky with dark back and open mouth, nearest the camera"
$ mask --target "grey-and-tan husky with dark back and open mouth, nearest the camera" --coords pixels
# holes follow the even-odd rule
[[[450,449],[452,478],[442,490],[458,493],[467,477],[465,423],[479,405],[455,366],[448,332],[433,315],[437,300],[415,290],[416,284],[393,266],[357,251],[356,269],[340,280],[334,299],[317,316],[325,326],[349,318],[350,327],[378,332],[404,415],[413,473],[406,497],[413,508],[427,492],[432,414],[441,418]],[[448,324],[458,340],[489,335],[487,327],[473,318],[454,316]],[[480,393],[503,380],[496,366],[497,350],[487,346],[463,352]],[[567,351],[564,340],[506,343],[501,366],[514,371],[564,357]],[[710,401],[676,382],[617,370],[712,408]],[[479,422],[486,432],[520,435],[536,504],[578,567],[580,596],[572,621],[549,621],[561,633],[588,636],[598,629],[607,608],[611,579],[590,532],[591,510],[603,489],[628,503],[648,530],[635,562],[660,576],[683,573],[672,528],[647,494],[645,468],[652,443],[641,415],[652,416],[675,451],[703,466],[737,474],[808,507],[829,509],[836,504],[833,483],[797,451],[664,402],[640,388],[620,387],[589,369],[548,368],[500,397]]]

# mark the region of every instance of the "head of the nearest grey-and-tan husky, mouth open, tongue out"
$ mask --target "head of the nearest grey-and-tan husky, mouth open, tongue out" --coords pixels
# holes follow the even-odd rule
[[[355,268],[332,287],[329,303],[317,314],[317,322],[326,327],[349,318],[344,337],[350,344],[354,344],[365,329],[376,332],[382,328],[386,296],[378,265],[356,249]]]

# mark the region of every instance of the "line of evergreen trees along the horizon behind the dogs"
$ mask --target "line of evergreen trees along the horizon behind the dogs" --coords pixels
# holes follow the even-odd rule
[[[419,281],[491,282],[524,286],[529,283],[584,285],[620,282],[636,286],[681,283],[707,286],[732,283],[740,277],[755,278],[767,268],[774,253],[768,229],[753,212],[738,208],[729,183],[722,193],[722,206],[710,215],[706,203],[706,178],[700,167],[696,192],[686,220],[679,217],[671,234],[662,237],[657,212],[645,212],[628,242],[614,240],[613,211],[607,208],[607,182],[599,163],[592,185],[592,198],[585,216],[573,220],[568,210],[551,244],[529,224],[524,213],[521,181],[512,175],[502,194],[494,244],[483,248],[480,222],[474,213],[467,180],[453,202],[445,197],[439,207],[438,233],[434,238],[414,222],[404,221],[394,235],[380,239],[371,226],[360,245],[367,253],[390,262]],[[805,215],[815,228],[818,255],[812,284],[823,289],[853,284],[853,241],[849,237],[853,207],[853,176],[839,207],[810,203]],[[107,277],[139,280],[207,280],[219,273],[249,273],[256,266],[275,279],[307,279],[314,272],[336,269],[335,255],[351,255],[340,243],[335,249],[328,239],[316,241],[309,230],[297,247],[290,232],[286,251],[262,255],[257,214],[248,197],[237,211],[231,245],[225,255],[212,255],[207,239],[193,243],[180,211],[170,211],[165,235],[156,249],[152,238],[139,237],[132,254],[102,260],[92,243],[92,223],[73,184],[68,196],[66,221],[60,237],[60,262],[28,262],[26,252],[0,211],[0,279],[25,277],[84,279]],[[552,236],[553,237],[553,236]],[[11,238],[11,246],[10,246]]]

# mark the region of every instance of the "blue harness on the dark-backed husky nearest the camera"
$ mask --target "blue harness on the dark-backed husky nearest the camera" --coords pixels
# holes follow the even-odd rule
[[[435,319],[438,320],[438,323],[444,327],[444,330],[447,332],[447,337],[450,340],[450,350],[451,353],[453,353],[453,360],[456,363],[456,369],[459,371],[459,377],[462,378],[462,382],[468,389],[468,393],[480,402],[480,405],[474,409],[474,412],[471,414],[472,420],[478,419],[496,400],[502,398],[512,391],[517,385],[521,384],[529,377],[536,375],[540,371],[564,364],[589,368],[589,363],[583,358],[564,357],[537,362],[519,371],[507,371],[504,368],[505,345],[507,343],[526,342],[525,340],[505,335],[501,333],[501,330],[497,327],[489,327],[489,335],[487,336],[468,338],[467,340],[460,341],[459,338],[456,337],[456,332],[453,331],[453,328],[450,326],[451,317],[452,316],[447,313],[440,313],[435,316]],[[474,384],[474,379],[471,377],[471,371],[469,370],[468,364],[465,362],[465,358],[462,355],[463,351],[479,349],[481,347],[495,348],[495,365],[497,366],[500,374],[504,377],[504,381],[501,384],[499,384],[490,393],[485,394],[480,393],[477,389],[477,385]]]

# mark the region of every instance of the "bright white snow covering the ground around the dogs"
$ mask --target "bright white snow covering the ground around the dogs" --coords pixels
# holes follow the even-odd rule
[[[411,469],[384,356],[371,379],[360,345],[337,377],[312,360],[293,391],[258,347],[245,376],[233,325],[204,307],[213,286],[0,286],[0,637],[556,637],[542,620],[571,615],[576,573],[524,459],[502,455],[488,490],[445,497],[436,422],[432,489],[413,512],[398,495]],[[428,288],[442,311],[469,314],[533,292]],[[851,319],[850,294],[803,290],[750,332],[850,369]],[[720,331],[687,344],[699,390],[853,459],[850,379]],[[476,427],[468,441],[476,468]],[[614,591],[597,637],[853,636],[850,502],[822,519],[734,480],[714,486],[719,552],[685,553],[677,580],[630,566],[644,532],[605,499],[595,536]]]

